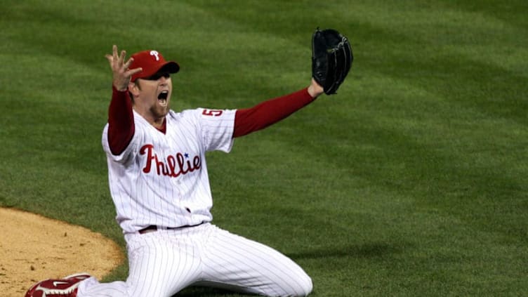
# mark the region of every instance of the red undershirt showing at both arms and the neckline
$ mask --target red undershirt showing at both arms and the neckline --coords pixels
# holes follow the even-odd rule
[[[262,130],[277,123],[297,110],[312,103],[308,88],[259,103],[251,108],[237,110],[233,137]],[[166,121],[164,121],[164,124]],[[165,132],[165,127],[161,132]],[[134,136],[134,114],[128,91],[118,91],[112,86],[112,100],[108,108],[108,144],[114,155],[124,152]]]

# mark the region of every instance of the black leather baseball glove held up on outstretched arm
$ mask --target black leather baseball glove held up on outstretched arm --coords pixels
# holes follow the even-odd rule
[[[326,95],[335,94],[352,67],[352,46],[334,29],[315,30],[312,36],[312,77]]]

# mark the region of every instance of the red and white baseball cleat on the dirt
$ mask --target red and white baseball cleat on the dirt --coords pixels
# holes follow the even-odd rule
[[[63,279],[46,279],[34,284],[25,297],[76,297],[79,283],[88,277],[91,275],[77,273]]]

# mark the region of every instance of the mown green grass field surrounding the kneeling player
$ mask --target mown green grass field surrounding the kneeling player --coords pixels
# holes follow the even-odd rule
[[[174,110],[242,108],[308,86],[311,34],[333,27],[354,48],[347,81],[209,154],[213,222],[296,260],[312,296],[527,296],[527,15],[524,0],[4,1],[0,206],[124,248],[100,145],[112,44],[180,63]]]

